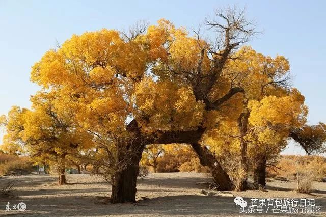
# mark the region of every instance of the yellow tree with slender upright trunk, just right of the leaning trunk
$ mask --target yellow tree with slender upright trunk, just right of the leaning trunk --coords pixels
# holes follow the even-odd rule
[[[231,155],[237,154],[240,156],[237,163],[239,169],[233,168],[232,170],[242,171],[240,174],[244,174],[241,175],[242,178],[239,180],[241,183],[235,184],[235,186],[237,190],[243,191],[247,188],[248,146],[253,145],[254,141],[260,144],[256,135],[256,133],[260,132],[257,129],[263,127],[269,127],[270,129],[276,126],[274,123],[269,123],[268,126],[258,125],[260,123],[252,124],[250,119],[255,114],[252,114],[251,104],[260,102],[266,97],[274,96],[279,98],[289,95],[291,93],[288,90],[290,76],[287,75],[289,63],[282,56],[273,59],[257,53],[251,47],[243,47],[234,53],[233,57],[234,60],[228,64],[228,68],[225,70],[228,80],[224,80],[221,88],[236,85],[243,92],[241,95],[234,96],[233,99],[229,100],[229,103],[224,103],[224,107],[220,111],[225,116],[220,118],[220,126],[211,130],[209,135],[211,141],[208,140],[207,142],[221,155],[230,150],[230,144],[232,144],[232,148],[235,150],[228,152]],[[269,106],[277,107],[277,101],[271,101]],[[293,104],[293,106],[296,106],[296,104]],[[300,108],[301,104],[298,106]],[[290,114],[292,113],[287,115]],[[264,113],[259,115],[262,116]],[[223,136],[219,137],[219,135]],[[215,144],[213,141],[215,141]],[[228,141],[227,145],[225,145],[225,141]],[[255,150],[257,150],[257,147],[255,147]]]

